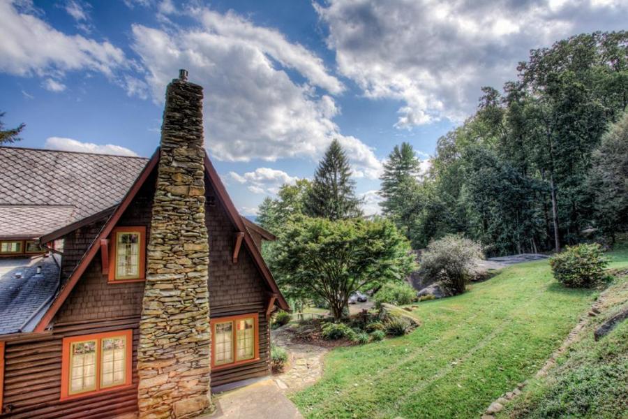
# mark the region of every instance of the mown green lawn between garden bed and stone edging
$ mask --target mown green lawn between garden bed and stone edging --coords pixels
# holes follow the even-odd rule
[[[628,265],[628,251],[613,267]],[[529,378],[594,291],[553,281],[546,261],[514,265],[468,293],[421,302],[421,328],[338,348],[322,380],[292,397],[308,418],[469,418]]]

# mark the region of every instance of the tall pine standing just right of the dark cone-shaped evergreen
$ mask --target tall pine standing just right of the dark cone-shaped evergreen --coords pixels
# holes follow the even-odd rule
[[[419,159],[414,155],[414,149],[408,142],[402,142],[401,147],[395,146],[384,163],[384,174],[380,196],[384,198],[382,210],[386,215],[394,215],[398,207],[408,196],[405,196],[408,181],[416,182],[419,177]]]

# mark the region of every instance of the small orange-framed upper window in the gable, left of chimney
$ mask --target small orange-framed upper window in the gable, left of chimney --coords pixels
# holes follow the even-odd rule
[[[110,238],[109,281],[143,281],[146,277],[146,227],[117,227]]]

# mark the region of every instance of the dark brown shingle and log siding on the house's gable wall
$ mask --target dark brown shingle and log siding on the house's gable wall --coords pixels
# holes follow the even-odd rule
[[[151,175],[137,193],[119,220],[119,226],[147,226],[147,236],[150,234],[154,179]],[[215,196],[209,182],[207,194]],[[260,360],[212,372],[211,386],[216,387],[269,374],[269,325],[265,305],[269,289],[244,244],[238,262],[232,262],[237,230],[219,200],[215,205],[206,206],[206,221],[211,318],[253,312],[260,314]],[[103,223],[105,219],[65,237],[63,274],[69,275],[74,269]],[[143,293],[143,282],[107,284],[98,254],[54,316],[52,335],[6,343],[1,406],[6,413],[0,418],[104,419],[137,412],[137,344]],[[133,330],[133,387],[61,402],[63,337],[128,329]]]

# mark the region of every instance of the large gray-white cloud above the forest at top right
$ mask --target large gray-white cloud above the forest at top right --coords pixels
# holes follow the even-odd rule
[[[329,0],[338,70],[371,98],[404,104],[396,127],[465,119],[480,87],[514,78],[531,48],[583,31],[625,29],[621,0]]]

